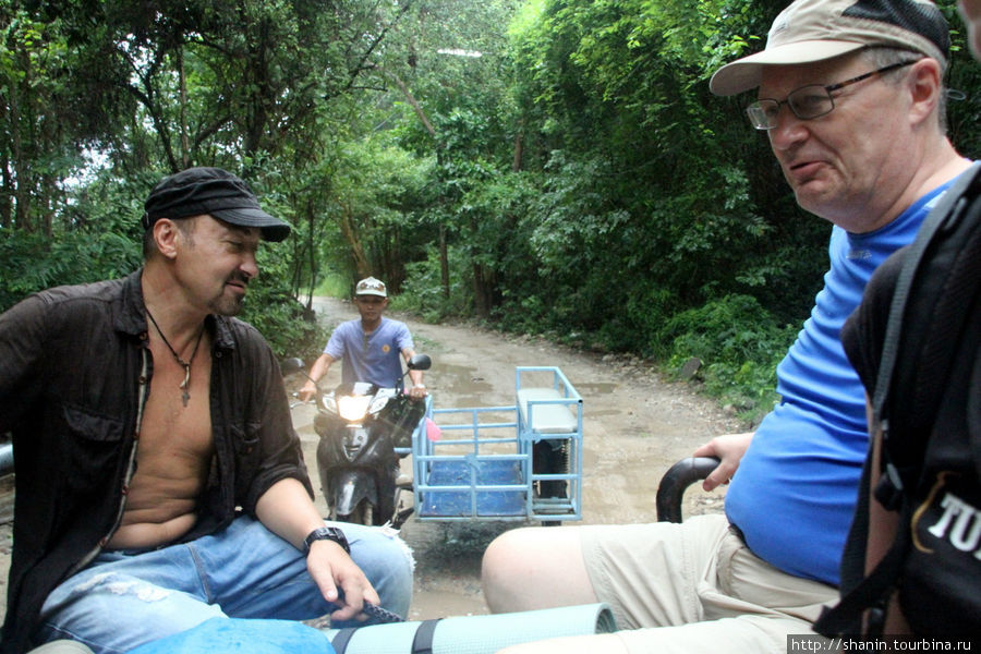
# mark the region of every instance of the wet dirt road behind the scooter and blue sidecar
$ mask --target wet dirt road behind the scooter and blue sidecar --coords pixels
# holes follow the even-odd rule
[[[322,299],[315,308],[328,327],[356,317],[348,302]],[[425,382],[438,408],[513,404],[516,366],[562,370],[583,397],[583,523],[653,520],[654,493],[664,471],[713,435],[740,427],[711,400],[694,396],[683,385],[662,382],[635,362],[471,326],[395,317],[409,324],[416,350],[433,358]],[[339,378],[340,371],[331,370],[325,387]],[[316,480],[313,408],[295,408],[293,420]],[[408,470],[404,462],[403,467]],[[323,497],[318,495],[317,500],[326,512]],[[708,510],[720,504],[718,496],[700,496],[698,501]],[[410,619],[487,613],[480,588],[481,554],[495,535],[514,526],[410,519],[402,529],[416,559]],[[0,615],[5,609],[10,543],[10,524],[0,525]]]

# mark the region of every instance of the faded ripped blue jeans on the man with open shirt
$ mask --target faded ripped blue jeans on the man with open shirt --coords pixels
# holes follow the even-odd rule
[[[413,561],[396,532],[328,524],[343,530],[351,557],[382,606],[407,616]],[[192,543],[104,552],[48,595],[41,634],[84,642],[96,654],[117,654],[214,617],[306,620],[331,610],[307,573],[303,554],[242,517]]]

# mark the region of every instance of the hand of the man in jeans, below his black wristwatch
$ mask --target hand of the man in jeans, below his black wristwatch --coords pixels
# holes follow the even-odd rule
[[[340,606],[330,614],[332,620],[350,620],[361,614],[364,601],[380,604],[378,593],[361,568],[343,548],[332,541],[314,541],[306,555],[306,569],[328,602]],[[343,597],[338,593],[343,590]],[[367,616],[361,616],[361,620]]]

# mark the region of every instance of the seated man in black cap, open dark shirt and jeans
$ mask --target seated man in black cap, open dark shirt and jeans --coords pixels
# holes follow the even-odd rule
[[[290,227],[217,168],[161,181],[145,266],[0,315],[0,432],[16,452],[0,652],[125,652],[213,617],[408,610],[395,534],[325,524],[276,359],[232,318],[259,240]],[[364,570],[364,571],[362,571]]]

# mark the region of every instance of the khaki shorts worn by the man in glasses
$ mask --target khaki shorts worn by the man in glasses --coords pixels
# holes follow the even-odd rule
[[[838,598],[756,557],[725,516],[579,529],[593,589],[625,630],[597,638],[631,654],[786,654],[787,635],[812,634],[822,606]]]

